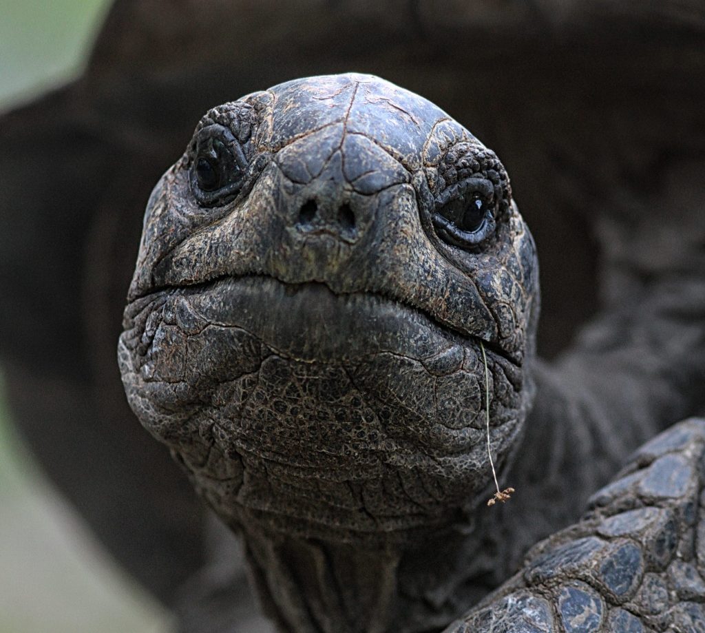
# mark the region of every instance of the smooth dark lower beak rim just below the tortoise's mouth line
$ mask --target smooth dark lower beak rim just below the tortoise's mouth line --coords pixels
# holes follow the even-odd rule
[[[190,321],[240,327],[294,361],[340,363],[384,352],[430,361],[453,346],[479,340],[393,299],[336,294],[320,282],[226,277],[180,287],[178,294],[185,303],[176,316],[185,327]]]

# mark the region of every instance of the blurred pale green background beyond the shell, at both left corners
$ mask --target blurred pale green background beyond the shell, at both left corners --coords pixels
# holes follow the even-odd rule
[[[0,112],[78,76],[109,4],[0,2]],[[0,633],[162,633],[168,617],[44,476],[0,373]]]

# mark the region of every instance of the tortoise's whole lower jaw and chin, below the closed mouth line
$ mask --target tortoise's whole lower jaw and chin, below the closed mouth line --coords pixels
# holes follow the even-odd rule
[[[140,306],[121,337],[130,402],[226,519],[372,534],[438,524],[484,488],[477,339],[380,296],[264,276]],[[524,417],[522,371],[494,354],[489,366],[502,463]]]

